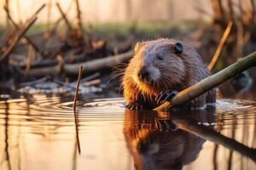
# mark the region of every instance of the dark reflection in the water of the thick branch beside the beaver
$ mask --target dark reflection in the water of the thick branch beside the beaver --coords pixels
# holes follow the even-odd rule
[[[237,142],[235,139],[225,137],[221,133],[217,133],[211,128],[200,126],[196,124],[197,122],[176,118],[175,116],[172,116],[172,121],[177,123],[177,127],[183,129],[184,131],[193,133],[202,139],[210,140],[215,144],[221,144],[230,150],[236,150],[242,155],[251,158],[254,162],[256,161],[256,150]]]

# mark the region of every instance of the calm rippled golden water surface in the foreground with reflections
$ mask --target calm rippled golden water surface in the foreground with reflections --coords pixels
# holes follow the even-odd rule
[[[60,96],[0,99],[0,169],[256,169],[253,101],[170,112],[80,101],[77,126],[72,107]]]

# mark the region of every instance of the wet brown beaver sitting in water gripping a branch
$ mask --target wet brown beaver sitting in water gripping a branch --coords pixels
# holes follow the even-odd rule
[[[210,75],[195,48],[184,42],[169,38],[137,42],[122,78],[126,108],[151,110]],[[214,102],[212,89],[178,107],[199,108]]]

